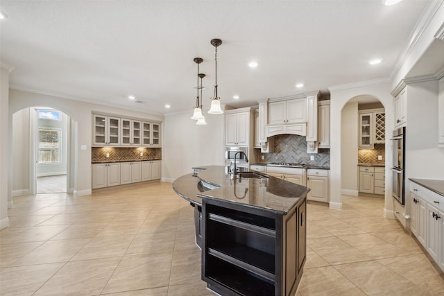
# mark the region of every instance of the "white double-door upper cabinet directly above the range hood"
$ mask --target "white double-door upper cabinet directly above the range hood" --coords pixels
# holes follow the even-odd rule
[[[268,104],[268,124],[302,123],[307,121],[307,99],[296,98]]]

